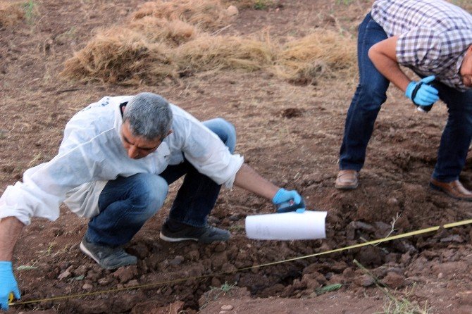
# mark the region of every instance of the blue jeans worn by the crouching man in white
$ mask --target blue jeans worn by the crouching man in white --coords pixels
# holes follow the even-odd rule
[[[231,153],[235,151],[235,127],[221,118],[205,121],[204,125],[220,137]],[[206,225],[221,185],[185,160],[179,165],[169,165],[160,175],[138,173],[108,181],[99,196],[100,213],[89,221],[87,239],[112,247],[128,243],[144,222],[162,207],[169,184],[182,175],[185,179],[170,209],[169,219],[195,227]]]

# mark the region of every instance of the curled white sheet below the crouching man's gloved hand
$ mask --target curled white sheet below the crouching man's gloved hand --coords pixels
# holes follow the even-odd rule
[[[246,217],[246,234],[259,240],[324,239],[325,219],[325,211],[251,215]]]

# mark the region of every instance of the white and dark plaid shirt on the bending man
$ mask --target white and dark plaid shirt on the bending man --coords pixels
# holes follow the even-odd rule
[[[398,35],[397,61],[465,91],[459,70],[472,44],[472,15],[443,0],[376,0],[372,18]]]

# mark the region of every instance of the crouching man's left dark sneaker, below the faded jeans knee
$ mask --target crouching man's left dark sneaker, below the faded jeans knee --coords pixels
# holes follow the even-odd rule
[[[101,246],[87,241],[84,236],[80,242],[80,251],[93,258],[99,265],[107,270],[113,270],[126,265],[135,265],[137,257],[132,256],[123,250],[123,248],[113,249],[109,246]]]

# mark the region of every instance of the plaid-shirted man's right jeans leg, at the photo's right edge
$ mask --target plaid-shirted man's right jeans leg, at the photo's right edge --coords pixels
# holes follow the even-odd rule
[[[459,92],[435,83],[440,99],[447,105],[449,117],[437,151],[433,178],[442,182],[459,179],[472,139],[472,90]]]

